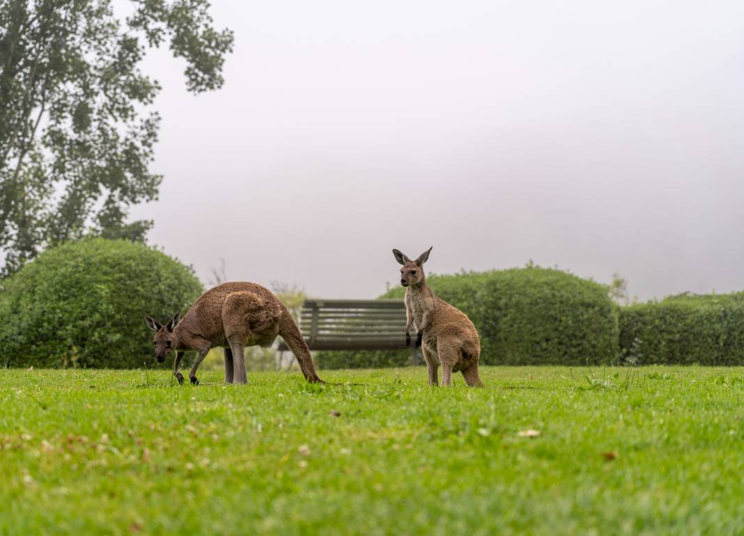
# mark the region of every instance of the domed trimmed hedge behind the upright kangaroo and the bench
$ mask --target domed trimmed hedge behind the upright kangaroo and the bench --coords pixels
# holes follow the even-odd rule
[[[617,311],[597,282],[536,266],[430,275],[427,282],[475,324],[481,364],[603,364],[618,355]],[[404,294],[399,287],[382,297]],[[411,351],[318,352],[317,358],[327,369],[398,367],[410,363]]]

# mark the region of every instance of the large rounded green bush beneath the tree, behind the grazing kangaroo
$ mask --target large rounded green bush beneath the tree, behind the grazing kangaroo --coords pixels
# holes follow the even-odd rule
[[[49,249],[0,288],[0,366],[141,367],[147,312],[165,320],[202,292],[193,270],[145,245],[88,239]]]

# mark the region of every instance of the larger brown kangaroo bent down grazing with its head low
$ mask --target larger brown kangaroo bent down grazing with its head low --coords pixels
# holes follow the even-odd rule
[[[295,354],[307,381],[323,383],[315,374],[310,350],[292,315],[278,298],[261,285],[251,282],[227,282],[206,291],[179,321],[179,313],[163,326],[145,315],[147,327],[155,332],[153,344],[158,363],[176,351],[173,375],[179,383],[184,377],[179,364],[186,350],[196,350],[199,356],[191,367],[189,378],[199,384],[196,369],[212,346],[222,346],[225,352],[225,383],[247,384],[246,346],[271,346],[279,335]]]

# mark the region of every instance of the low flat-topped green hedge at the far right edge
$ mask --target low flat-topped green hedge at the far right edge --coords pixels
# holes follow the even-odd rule
[[[683,294],[623,307],[620,349],[639,364],[744,364],[744,294]]]

